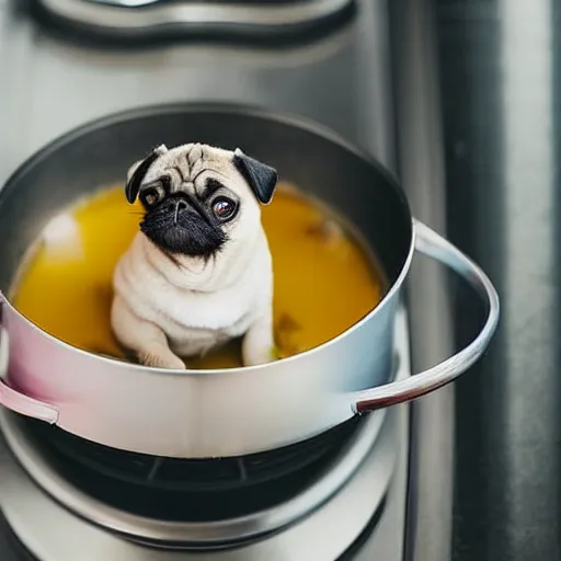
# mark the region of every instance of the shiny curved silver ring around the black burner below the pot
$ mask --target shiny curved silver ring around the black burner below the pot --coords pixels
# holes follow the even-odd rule
[[[403,321],[403,320],[402,320]],[[407,371],[398,373],[403,378]],[[329,470],[294,499],[267,511],[207,523],[174,523],[123,512],[83,493],[49,465],[22,430],[18,416],[0,412],[0,425],[10,449],[31,478],[57,502],[87,520],[142,542],[181,543],[211,548],[233,545],[282,529],[329,501],[352,478],[371,451],[383,424],[385,411],[371,415],[341,450]],[[375,482],[378,484],[378,481]],[[369,503],[368,495],[364,501]],[[358,507],[358,504],[355,505]],[[362,510],[362,508],[360,508]]]

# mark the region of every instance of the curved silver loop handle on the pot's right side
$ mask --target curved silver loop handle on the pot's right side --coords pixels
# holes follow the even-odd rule
[[[424,373],[408,379],[356,392],[355,413],[365,413],[420,398],[454,381],[476,363],[496,330],[500,314],[499,295],[483,271],[449,241],[428,226],[414,220],[415,250],[463,277],[486,304],[486,320],[479,335],[459,353]]]

